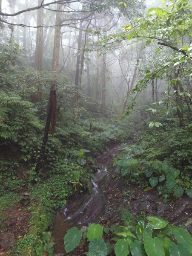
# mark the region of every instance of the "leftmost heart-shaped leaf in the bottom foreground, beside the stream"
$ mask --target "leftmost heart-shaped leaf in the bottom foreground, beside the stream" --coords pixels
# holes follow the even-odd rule
[[[64,237],[64,245],[67,253],[77,247],[80,242],[81,235],[81,230],[77,230],[77,227],[72,227],[70,230],[68,230]]]

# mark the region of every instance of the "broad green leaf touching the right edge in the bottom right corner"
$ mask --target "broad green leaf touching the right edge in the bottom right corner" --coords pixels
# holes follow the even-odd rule
[[[175,238],[178,241],[178,244],[183,244],[188,248],[189,252],[192,253],[192,236],[188,231],[184,230],[182,227],[173,231]]]

